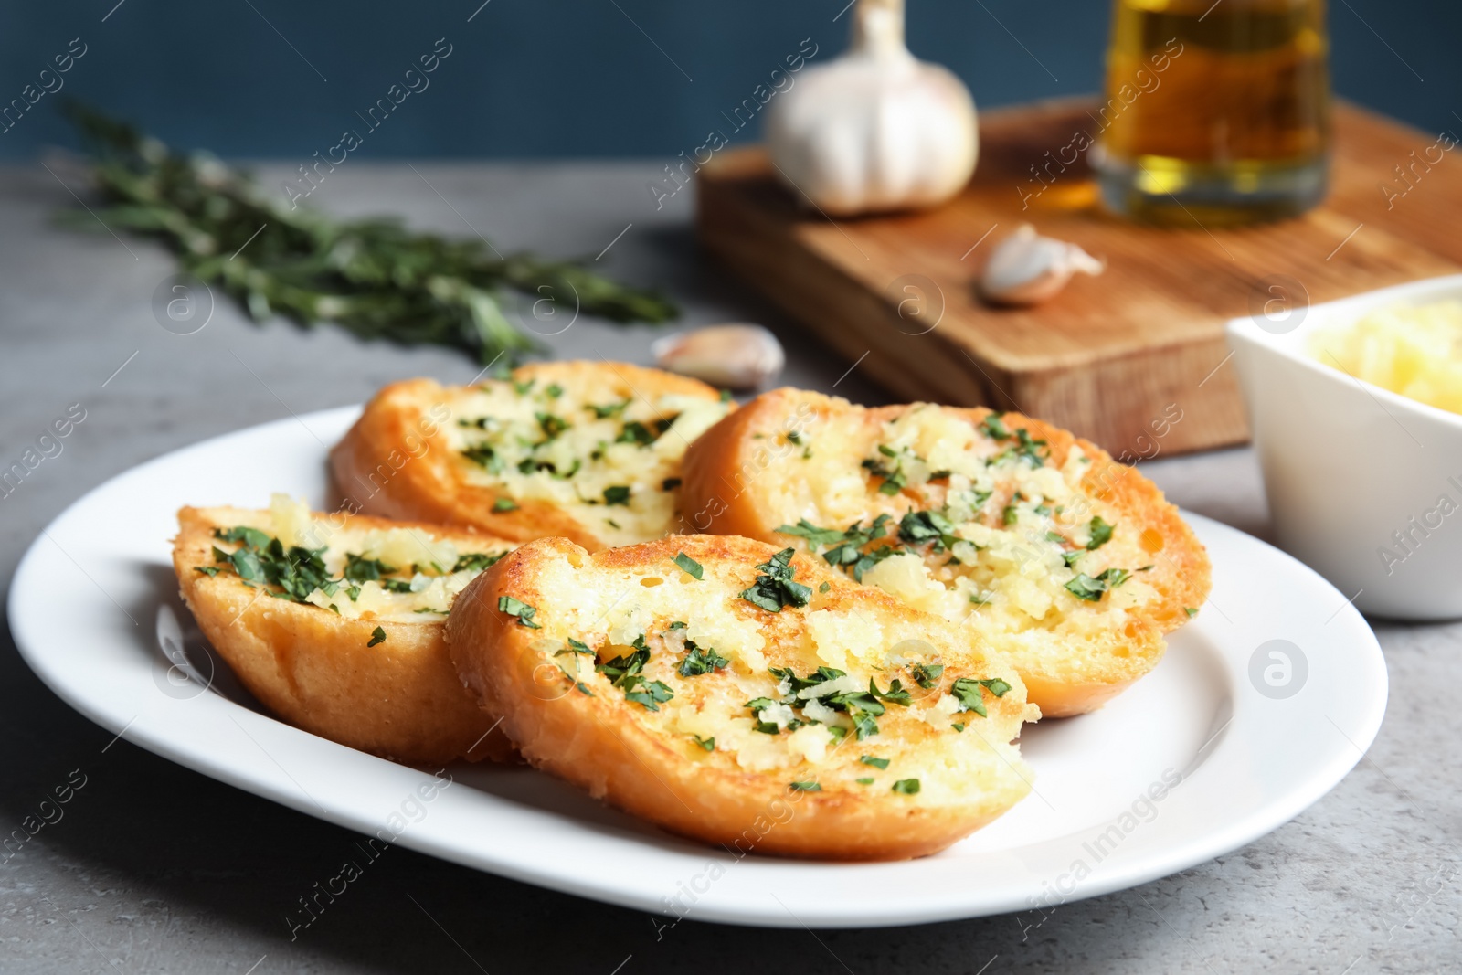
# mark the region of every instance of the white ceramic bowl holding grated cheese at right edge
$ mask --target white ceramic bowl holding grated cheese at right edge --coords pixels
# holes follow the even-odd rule
[[[1462,617],[1462,415],[1316,361],[1308,338],[1443,298],[1462,275],[1228,323],[1279,545],[1374,615]]]

